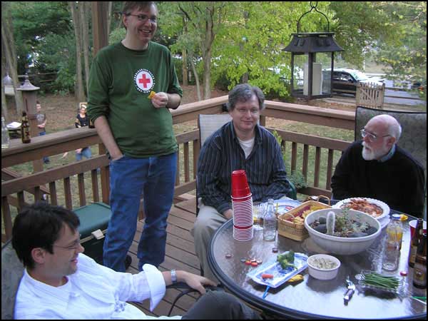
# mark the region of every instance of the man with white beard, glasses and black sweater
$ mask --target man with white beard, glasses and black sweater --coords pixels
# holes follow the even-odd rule
[[[389,115],[375,116],[342,154],[332,177],[332,198],[367,197],[390,208],[422,217],[424,169],[397,146],[402,128]]]

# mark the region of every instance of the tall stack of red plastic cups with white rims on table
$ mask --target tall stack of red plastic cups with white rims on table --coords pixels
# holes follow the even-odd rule
[[[253,198],[245,170],[232,172],[233,238],[253,238]]]

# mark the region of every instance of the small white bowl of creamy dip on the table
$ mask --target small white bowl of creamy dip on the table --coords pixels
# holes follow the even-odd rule
[[[340,260],[332,255],[315,254],[307,258],[309,275],[317,280],[332,280],[339,272]]]

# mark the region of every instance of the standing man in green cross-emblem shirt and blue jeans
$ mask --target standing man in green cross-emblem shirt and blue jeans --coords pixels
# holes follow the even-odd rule
[[[138,269],[165,259],[167,218],[173,203],[178,145],[169,108],[183,91],[170,51],[151,41],[158,28],[154,2],[126,1],[126,37],[93,59],[88,116],[108,150],[111,220],[103,264],[125,271],[143,196],[146,220],[138,243]]]

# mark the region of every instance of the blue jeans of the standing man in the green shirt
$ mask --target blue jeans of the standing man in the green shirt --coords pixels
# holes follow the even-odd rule
[[[111,220],[104,241],[103,265],[125,271],[125,258],[136,233],[143,194],[146,222],[138,243],[138,269],[158,267],[165,258],[166,225],[173,204],[177,153],[150,158],[123,156],[110,163]]]

